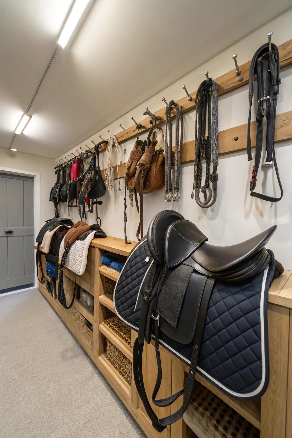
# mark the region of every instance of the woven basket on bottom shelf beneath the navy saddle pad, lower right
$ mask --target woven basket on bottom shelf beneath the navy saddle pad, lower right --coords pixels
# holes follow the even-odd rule
[[[186,422],[200,424],[206,437],[260,438],[260,431],[199,382],[186,410]],[[196,429],[196,424],[194,424]]]

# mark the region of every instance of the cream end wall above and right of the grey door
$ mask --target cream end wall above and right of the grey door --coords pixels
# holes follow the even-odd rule
[[[56,182],[54,166],[56,163],[53,159],[0,148],[0,168],[40,173],[40,226],[45,223],[46,219],[54,217],[53,202],[49,202],[50,190]]]

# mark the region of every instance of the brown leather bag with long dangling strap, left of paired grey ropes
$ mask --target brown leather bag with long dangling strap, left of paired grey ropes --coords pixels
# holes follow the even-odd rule
[[[141,147],[142,155],[137,161],[135,176],[129,190],[131,206],[133,206],[133,195],[135,194],[137,204],[137,193],[140,194],[140,209],[137,207],[138,212],[140,212],[140,224],[137,230],[138,240],[140,233],[141,237],[143,237],[143,194],[159,190],[164,186],[165,180],[164,148],[158,144],[157,133],[154,131],[155,129],[161,131],[164,144],[164,135],[161,127],[157,125],[151,127],[148,137]]]

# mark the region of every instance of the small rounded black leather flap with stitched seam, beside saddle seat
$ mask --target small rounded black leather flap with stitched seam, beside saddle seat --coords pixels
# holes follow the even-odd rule
[[[193,254],[208,238],[186,219],[169,225],[164,239],[164,260],[166,268],[173,268]]]

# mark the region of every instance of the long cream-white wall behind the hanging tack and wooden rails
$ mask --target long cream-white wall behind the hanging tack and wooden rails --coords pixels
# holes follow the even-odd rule
[[[149,106],[152,112],[157,111],[163,106],[162,97],[169,102],[171,99],[183,97],[183,84],[190,92],[197,89],[201,81],[204,80],[204,71],[209,70],[209,76],[217,78],[221,74],[234,68],[232,54],[237,53],[239,64],[250,60],[256,49],[267,41],[267,32],[273,31],[272,41],[277,45],[291,38],[292,10],[282,16],[275,18],[273,21],[259,28],[256,32],[246,36],[246,38],[237,42],[235,45],[218,54],[201,67],[187,74],[184,78],[176,81],[174,84],[162,90],[159,94],[153,96],[147,102],[142,103],[130,113],[121,117],[113,124],[106,127],[101,132],[93,135],[87,141],[79,146],[85,147],[85,143],[91,145],[90,140],[95,143],[100,141],[99,134],[103,138],[108,138],[108,129],[117,133],[120,132],[119,124],[124,127],[132,125],[130,116],[135,120],[142,120],[142,112]],[[241,23],[239,22],[239,26]],[[222,28],[224,32],[224,27]],[[194,42],[193,53],[190,56],[196,56],[196,44]],[[183,48],[182,48],[183,49]],[[163,56],[163,53],[162,53]],[[140,62],[145,62],[143,57],[138,57]],[[175,59],[173,60],[175,63]],[[147,63],[145,64],[147,68]],[[118,74],[118,72],[117,72]],[[286,67],[281,70],[281,86],[278,96],[277,113],[282,113],[292,109],[292,67]],[[110,96],[109,99],[114,99]],[[248,85],[219,97],[219,131],[247,123],[248,118]],[[194,139],[194,112],[191,111],[184,115],[184,141]],[[253,120],[255,119],[255,105],[253,105]],[[144,139],[147,133],[141,134]],[[134,139],[126,141],[123,147],[126,148],[126,154],[117,157],[114,152],[116,162],[126,161],[134,145]],[[292,244],[292,184],[291,184],[291,162],[292,162],[292,141],[278,143],[276,145],[276,158],[278,162],[280,177],[284,189],[284,196],[278,203],[260,201],[250,197],[249,185],[251,177],[252,162],[247,161],[246,152],[237,152],[220,157],[218,166],[218,195],[215,205],[206,210],[197,206],[196,202],[191,199],[193,185],[193,166],[191,163],[183,165],[180,180],[181,199],[178,203],[166,203],[164,201],[164,191],[157,191],[144,196],[144,230],[147,230],[151,218],[166,208],[172,208],[181,212],[186,219],[193,221],[206,236],[209,237],[211,244],[229,245],[245,240],[253,235],[260,233],[273,224],[278,225],[278,230],[274,233],[268,245],[276,258],[284,265],[286,269],[292,269],[291,244]],[[76,146],[72,147],[75,151]],[[70,152],[70,151],[69,151]],[[75,152],[74,152],[75,153]],[[67,153],[65,154],[67,155]],[[101,168],[106,167],[106,154],[102,152],[100,159]],[[63,157],[63,156],[62,156]],[[53,166],[52,166],[53,167]],[[52,169],[53,173],[53,169]],[[257,182],[257,190],[262,187],[262,178],[264,171],[260,172]],[[102,218],[102,228],[110,236],[123,238],[123,180],[121,180],[122,191],[118,191],[118,181],[115,181],[115,191],[107,192],[103,198],[103,205],[99,207],[99,215]],[[267,185],[263,187],[267,194],[279,193],[277,181],[273,170],[267,171]],[[49,191],[46,197],[49,196]],[[48,202],[46,202],[48,204]],[[138,225],[138,214],[136,210],[130,208],[128,202],[128,238],[136,240],[136,230]],[[66,215],[66,208],[62,206],[60,213]],[[77,212],[71,214],[71,218],[78,219]],[[94,223],[95,218],[92,214],[88,220]]]

